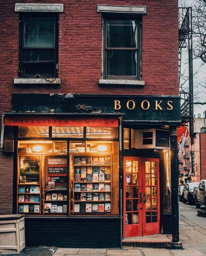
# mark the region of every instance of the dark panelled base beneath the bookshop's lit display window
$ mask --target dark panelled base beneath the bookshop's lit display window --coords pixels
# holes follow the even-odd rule
[[[119,217],[26,217],[27,246],[120,248]]]

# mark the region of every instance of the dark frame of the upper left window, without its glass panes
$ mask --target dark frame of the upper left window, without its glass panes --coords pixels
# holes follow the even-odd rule
[[[24,47],[24,27],[25,27],[25,20],[27,19],[54,19],[54,47]],[[19,19],[19,69],[18,69],[18,76],[20,78],[57,78],[58,77],[58,35],[59,35],[59,14],[58,13],[20,13]],[[23,63],[23,49],[53,49],[54,50],[54,69],[53,75],[48,74],[36,74],[40,76],[36,76],[33,74],[24,74],[24,63]],[[40,61],[44,63],[43,61]],[[49,62],[49,61],[48,61]],[[32,62],[31,62],[32,63]],[[34,62],[35,63],[35,62]]]

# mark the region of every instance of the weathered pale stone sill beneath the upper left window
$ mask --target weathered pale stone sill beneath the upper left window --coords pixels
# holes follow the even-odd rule
[[[60,78],[14,78],[14,84],[61,84]]]

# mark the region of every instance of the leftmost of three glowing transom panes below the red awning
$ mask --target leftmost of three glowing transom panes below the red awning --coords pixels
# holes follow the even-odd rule
[[[20,138],[30,137],[49,137],[49,127],[48,126],[19,126]]]

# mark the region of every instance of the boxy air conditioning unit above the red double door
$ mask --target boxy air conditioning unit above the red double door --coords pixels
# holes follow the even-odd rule
[[[169,131],[161,129],[135,130],[135,148],[169,149]]]

